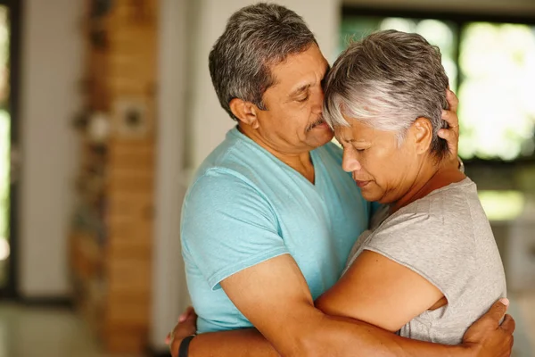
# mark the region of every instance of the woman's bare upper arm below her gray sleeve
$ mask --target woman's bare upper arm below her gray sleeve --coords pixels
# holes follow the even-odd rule
[[[415,271],[365,250],[342,278],[317,299],[316,306],[328,315],[365,321],[395,332],[443,296]]]

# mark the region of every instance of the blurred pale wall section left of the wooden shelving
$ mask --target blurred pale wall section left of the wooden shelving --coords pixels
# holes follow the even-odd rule
[[[25,0],[21,54],[19,286],[25,297],[63,296],[80,107],[84,2]]]

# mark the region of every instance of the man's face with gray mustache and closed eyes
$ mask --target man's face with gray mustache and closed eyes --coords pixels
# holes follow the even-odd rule
[[[263,95],[268,110],[259,111],[258,130],[262,140],[276,151],[300,154],[333,138],[333,131],[322,119],[323,80],[328,67],[315,44],[271,67],[275,85]]]

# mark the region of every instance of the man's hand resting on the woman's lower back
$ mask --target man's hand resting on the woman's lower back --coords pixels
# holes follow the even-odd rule
[[[514,320],[506,315],[509,301],[500,299],[489,312],[473,323],[463,338],[463,345],[472,349],[477,357],[508,357],[513,348]]]

